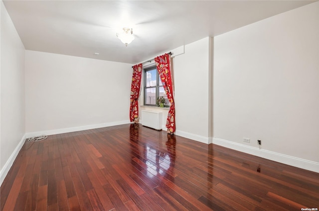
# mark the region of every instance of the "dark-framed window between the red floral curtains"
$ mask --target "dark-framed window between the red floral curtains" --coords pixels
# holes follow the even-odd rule
[[[160,76],[156,66],[144,69],[144,105],[157,105],[157,98],[163,96],[165,98],[165,107],[169,107],[165,90],[160,80]]]

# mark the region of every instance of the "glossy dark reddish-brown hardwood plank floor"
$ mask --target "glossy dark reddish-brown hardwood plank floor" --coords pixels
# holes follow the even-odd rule
[[[1,211],[301,211],[319,174],[121,125],[26,141],[0,194]]]

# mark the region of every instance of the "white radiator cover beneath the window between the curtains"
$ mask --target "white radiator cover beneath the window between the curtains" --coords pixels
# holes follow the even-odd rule
[[[142,111],[142,125],[160,131],[162,127],[162,112]]]

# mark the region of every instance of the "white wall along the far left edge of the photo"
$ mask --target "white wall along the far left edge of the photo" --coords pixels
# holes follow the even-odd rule
[[[12,165],[12,154],[23,143],[24,125],[24,46],[3,2],[0,1],[0,182]],[[14,158],[13,158],[14,159]]]

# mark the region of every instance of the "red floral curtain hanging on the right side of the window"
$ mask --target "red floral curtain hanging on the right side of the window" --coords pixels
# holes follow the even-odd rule
[[[171,79],[171,69],[170,69],[170,55],[164,54],[162,56],[155,58],[156,67],[159,71],[160,79],[163,84],[163,88],[167,95],[167,98],[170,103],[167,121],[166,121],[166,128],[168,134],[174,134],[176,127],[175,127],[175,105],[174,105],[174,98],[173,98],[173,85]]]

